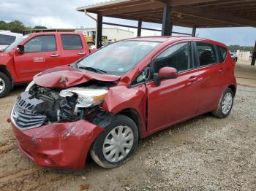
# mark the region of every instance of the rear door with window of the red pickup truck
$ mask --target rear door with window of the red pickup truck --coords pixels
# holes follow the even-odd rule
[[[74,63],[89,54],[85,38],[80,34],[60,34],[60,39],[63,64]]]

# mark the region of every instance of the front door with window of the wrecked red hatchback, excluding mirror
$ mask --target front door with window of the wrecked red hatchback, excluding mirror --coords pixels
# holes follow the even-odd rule
[[[190,42],[175,44],[154,59],[154,76],[170,66],[178,70],[177,79],[162,79],[161,85],[146,84],[148,90],[148,131],[153,133],[176,122],[194,117],[198,106],[197,72]]]

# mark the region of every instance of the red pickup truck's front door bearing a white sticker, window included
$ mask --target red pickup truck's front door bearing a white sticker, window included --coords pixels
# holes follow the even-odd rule
[[[19,81],[31,81],[40,71],[62,64],[55,34],[33,36],[23,45],[25,52],[14,56]]]

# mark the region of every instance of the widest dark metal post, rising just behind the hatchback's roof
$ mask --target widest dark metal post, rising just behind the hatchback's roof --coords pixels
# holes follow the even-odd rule
[[[162,15],[162,36],[170,35],[170,15],[171,7],[169,4],[164,4],[164,12]]]

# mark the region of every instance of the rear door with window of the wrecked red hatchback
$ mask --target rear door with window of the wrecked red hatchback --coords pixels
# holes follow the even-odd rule
[[[198,113],[210,112],[219,103],[226,85],[225,65],[219,60],[214,44],[196,42],[197,61],[200,71],[200,99]]]

